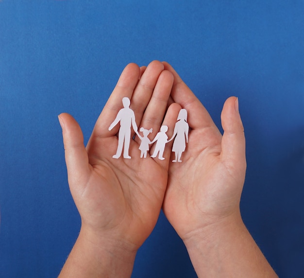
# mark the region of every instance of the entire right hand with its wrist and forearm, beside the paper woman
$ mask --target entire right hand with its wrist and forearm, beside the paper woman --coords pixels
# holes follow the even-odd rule
[[[198,277],[277,277],[241,219],[246,172],[244,128],[238,99],[226,100],[223,136],[203,104],[175,70],[171,98],[188,112],[183,163],[170,163],[164,212],[184,241]]]

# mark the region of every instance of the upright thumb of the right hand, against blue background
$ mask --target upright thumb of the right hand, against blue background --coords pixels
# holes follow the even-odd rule
[[[224,130],[221,159],[228,169],[245,176],[245,135],[236,97],[226,100],[221,113],[221,124]]]

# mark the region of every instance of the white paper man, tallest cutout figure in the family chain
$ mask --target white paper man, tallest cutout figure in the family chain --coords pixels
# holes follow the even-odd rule
[[[131,125],[135,133],[138,135],[137,125],[135,122],[135,115],[133,110],[129,108],[130,99],[124,97],[122,99],[122,104],[124,108],[119,110],[116,119],[114,120],[114,122],[111,123],[109,127],[109,130],[111,130],[114,126],[118,124],[118,122],[120,122],[120,128],[118,132],[118,147],[117,147],[116,155],[112,156],[113,158],[119,158],[121,156],[123,143],[124,143],[123,157],[131,158],[131,156],[129,156],[129,147],[131,140]]]

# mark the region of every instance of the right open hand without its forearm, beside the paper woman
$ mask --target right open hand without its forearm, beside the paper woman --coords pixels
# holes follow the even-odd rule
[[[245,178],[245,139],[237,99],[224,104],[224,135],[210,115],[168,63],[174,75],[172,105],[188,111],[190,127],[182,163],[170,163],[163,209],[182,239],[238,213]]]

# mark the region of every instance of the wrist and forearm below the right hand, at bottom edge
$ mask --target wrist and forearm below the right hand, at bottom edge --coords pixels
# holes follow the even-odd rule
[[[198,277],[277,278],[239,211],[189,233],[184,243]]]

